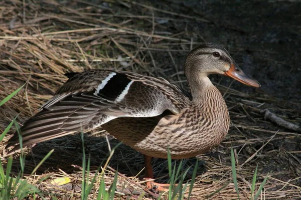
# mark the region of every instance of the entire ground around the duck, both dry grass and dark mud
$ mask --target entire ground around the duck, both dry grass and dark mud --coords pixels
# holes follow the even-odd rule
[[[200,42],[215,42],[228,49],[245,73],[261,83],[259,89],[220,75],[210,78],[223,93],[231,127],[222,143],[207,154],[184,161],[183,171],[199,160],[192,196],[203,199],[227,182],[232,182],[230,149],[236,156],[241,199],[250,198],[250,185],[258,164],[258,189],[268,174],[259,199],[301,198],[301,137],[263,119],[261,109],[300,125],[301,40],[297,0],[223,1],[4,1],[0,5],[0,99],[23,85],[0,109],[0,131],[20,113],[24,121],[38,111],[61,85],[69,71],[90,68],[118,68],[162,76],[188,90],[183,73],[185,56]],[[8,137],[14,133],[14,128]],[[102,130],[84,136],[90,153],[91,177],[108,158],[108,144]],[[0,144],[3,150],[8,137]],[[118,141],[108,135],[111,147]],[[79,134],[39,143],[28,151],[25,174],[52,148],[53,154],[39,167],[33,183],[58,198],[80,198],[83,149]],[[2,151],[4,152],[4,151]],[[15,155],[14,171],[19,170]],[[7,157],[1,156],[3,163]],[[156,198],[144,191],[143,156],[119,145],[106,168],[106,185],[119,172],[118,198]],[[156,177],[165,182],[168,164],[154,159]],[[192,169],[187,180],[191,177]],[[72,182],[51,187],[56,177]],[[125,189],[124,189],[125,188]],[[93,191],[96,192],[96,191]],[[123,194],[122,194],[123,193]],[[143,195],[143,193],[145,193]],[[93,196],[90,196],[92,198]],[[212,199],[233,199],[237,194],[228,184]]]

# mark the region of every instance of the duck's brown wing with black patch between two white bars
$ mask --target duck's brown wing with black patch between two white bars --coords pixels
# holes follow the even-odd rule
[[[67,73],[69,79],[40,111],[10,138],[10,154],[23,146],[96,128],[117,117],[179,114],[188,98],[164,79],[116,70]]]

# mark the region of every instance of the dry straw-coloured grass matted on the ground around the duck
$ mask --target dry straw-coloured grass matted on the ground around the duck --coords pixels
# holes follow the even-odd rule
[[[172,31],[165,27],[164,20],[210,22],[189,15],[181,15],[179,19],[178,13],[127,0],[104,0],[102,4],[74,0],[61,5],[58,0],[39,2],[12,0],[0,5],[0,99],[29,80],[25,89],[1,107],[1,132],[18,113],[21,112],[18,117],[20,124],[36,113],[66,80],[63,74],[69,71],[118,68],[163,76],[187,88],[182,58],[197,42],[190,39],[191,33],[185,27],[181,31]],[[256,188],[269,172],[260,199],[301,198],[301,152],[285,146],[299,145],[299,135],[278,130],[279,127],[264,121],[259,113],[262,108],[286,113],[291,111],[290,106],[277,105],[276,98],[260,91],[247,94],[216,84],[226,98],[233,124],[227,138],[219,146],[199,157],[205,164],[200,165],[192,196],[203,199],[232,181],[230,148],[233,146],[237,156],[241,199],[250,197],[251,180],[257,163]],[[93,170],[108,157],[104,135],[106,133],[103,131],[94,131],[85,136],[85,150],[91,154],[91,179],[95,173]],[[7,140],[8,137],[0,144],[2,152]],[[110,143],[114,146],[118,141],[110,138]],[[56,193],[58,198],[80,199],[82,147],[78,134],[43,142],[28,150],[25,172],[30,174],[52,148],[55,148],[54,153],[35,175],[28,178],[29,182],[45,192]],[[20,164],[17,157],[14,162],[16,172]],[[183,170],[193,165],[195,159],[187,160]],[[6,158],[2,157],[2,160]],[[156,198],[156,194],[146,190],[140,181],[143,174],[141,154],[120,145],[109,165],[112,168],[105,169],[105,183],[108,186],[113,180],[114,169],[120,172],[116,198],[135,199],[142,193],[145,193],[143,198]],[[168,175],[167,161],[155,159],[154,169],[157,177],[165,176],[164,181]],[[46,175],[50,177],[36,183]],[[60,187],[50,184],[52,179],[61,176],[70,177],[72,182]],[[93,194],[90,197],[93,198]],[[211,198],[237,198],[234,185],[230,183]]]

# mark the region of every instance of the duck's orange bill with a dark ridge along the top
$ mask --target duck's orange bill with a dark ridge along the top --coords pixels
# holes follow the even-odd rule
[[[229,70],[224,72],[224,75],[232,77],[246,85],[260,87],[260,83],[257,80],[247,76],[236,64],[231,64]]]

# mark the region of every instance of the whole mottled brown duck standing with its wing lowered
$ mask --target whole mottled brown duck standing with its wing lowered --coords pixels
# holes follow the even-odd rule
[[[223,96],[207,77],[230,76],[247,85],[259,83],[245,75],[225,48],[203,43],[192,49],[184,70],[190,98],[163,78],[112,69],[71,72],[67,82],[40,112],[20,129],[23,145],[72,132],[102,127],[123,143],[144,154],[145,178],[153,179],[152,157],[188,158],[219,144],[229,129]],[[9,140],[9,152],[20,150],[18,133]],[[148,181],[147,188],[165,184]]]

